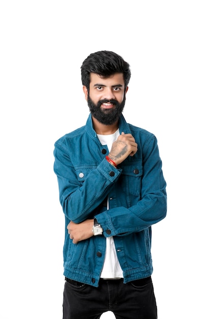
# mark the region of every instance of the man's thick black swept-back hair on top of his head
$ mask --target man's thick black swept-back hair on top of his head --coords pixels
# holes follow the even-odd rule
[[[96,73],[102,77],[109,77],[115,73],[123,73],[125,89],[127,88],[131,71],[130,65],[122,57],[112,51],[98,51],[90,54],[82,63],[81,79],[89,92],[90,73]]]

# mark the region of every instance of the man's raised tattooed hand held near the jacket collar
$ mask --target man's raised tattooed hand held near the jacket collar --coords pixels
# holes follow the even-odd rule
[[[138,150],[138,145],[135,142],[132,134],[121,135],[113,142],[108,157],[115,162],[116,165],[122,163],[129,155],[133,156]]]

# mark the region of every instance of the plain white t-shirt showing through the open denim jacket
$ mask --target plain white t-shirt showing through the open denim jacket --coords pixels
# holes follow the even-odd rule
[[[119,136],[119,129],[116,130],[113,134],[110,135],[100,135],[97,134],[100,143],[102,145],[107,145],[108,150],[110,151],[112,147],[112,143],[117,140]],[[107,201],[107,208],[109,208],[109,203]],[[101,273],[101,278],[123,278],[123,271],[120,267],[120,263],[118,261],[115,244],[113,240],[113,236],[106,238],[106,253],[105,260],[103,264],[103,269]]]

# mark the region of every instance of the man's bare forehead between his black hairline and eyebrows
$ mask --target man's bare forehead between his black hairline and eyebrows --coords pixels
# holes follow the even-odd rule
[[[125,85],[123,73],[115,73],[108,77],[103,77],[97,73],[90,73],[90,86],[97,84],[107,86]]]

